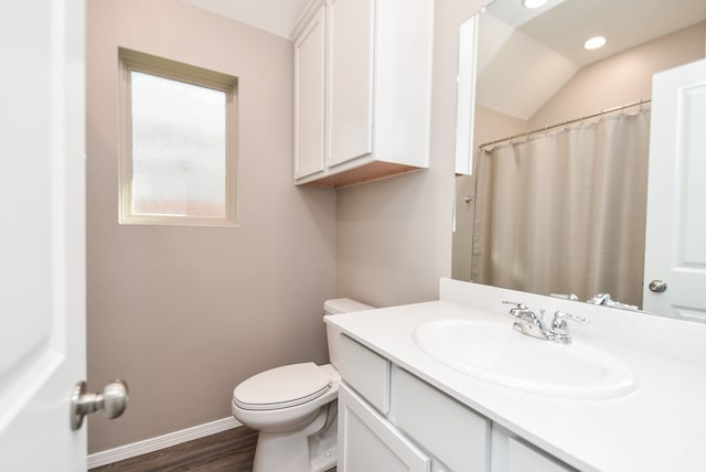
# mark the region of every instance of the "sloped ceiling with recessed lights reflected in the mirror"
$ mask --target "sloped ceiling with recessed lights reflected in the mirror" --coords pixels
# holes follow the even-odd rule
[[[477,101],[527,119],[581,67],[704,20],[705,0],[495,0],[480,17]],[[596,35],[608,43],[586,51]]]

